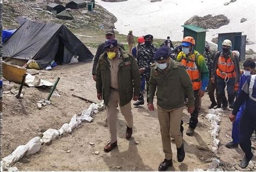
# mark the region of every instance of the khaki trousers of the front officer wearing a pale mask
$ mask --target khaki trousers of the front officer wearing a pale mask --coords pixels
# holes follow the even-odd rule
[[[182,145],[180,123],[183,116],[183,107],[178,109],[165,110],[157,105],[157,111],[165,159],[171,160],[171,136],[175,140],[177,148],[180,148]]]

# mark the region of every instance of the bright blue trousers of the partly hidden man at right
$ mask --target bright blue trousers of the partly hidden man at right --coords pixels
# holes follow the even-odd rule
[[[242,117],[242,112],[244,110],[245,105],[241,105],[239,108],[239,111],[237,112],[237,117],[235,118],[235,121],[233,123],[232,127],[232,139],[234,144],[239,144],[239,124]]]

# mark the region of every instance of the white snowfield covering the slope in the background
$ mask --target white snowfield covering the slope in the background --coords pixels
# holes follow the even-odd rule
[[[185,21],[194,15],[203,17],[206,15],[225,15],[230,23],[218,29],[209,29],[206,33],[206,41],[217,38],[217,33],[243,32],[247,35],[247,41],[254,42],[246,45],[246,49],[256,51],[256,1],[237,0],[224,5],[230,0],[163,0],[151,3],[150,0],[128,0],[125,2],[108,3],[96,0],[107,11],[117,17],[114,24],[121,34],[127,34],[130,30],[136,36],[152,34],[154,38],[166,39],[171,37],[173,41],[181,41],[183,38],[183,25]],[[241,18],[247,21],[240,23]]]

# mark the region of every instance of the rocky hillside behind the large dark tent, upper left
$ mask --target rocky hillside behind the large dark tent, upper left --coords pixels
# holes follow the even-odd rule
[[[46,11],[49,3],[43,1],[24,2],[3,2],[3,29],[17,28],[17,17],[23,16],[35,21],[63,24],[69,28],[89,28],[90,30],[105,30],[114,28],[116,17],[106,11],[102,6],[96,4],[93,11],[87,11],[87,8],[71,10],[74,20],[57,19],[51,12]],[[63,3],[65,6],[65,3]]]

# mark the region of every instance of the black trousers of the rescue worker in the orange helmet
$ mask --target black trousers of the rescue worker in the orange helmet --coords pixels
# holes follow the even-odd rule
[[[194,90],[194,111],[193,113],[190,114],[190,128],[196,128],[197,127],[197,123],[198,123],[198,114],[199,114],[199,102],[200,102],[200,98],[198,95],[199,90]],[[180,131],[183,132],[184,128],[183,128],[183,120],[181,120],[180,123]]]

